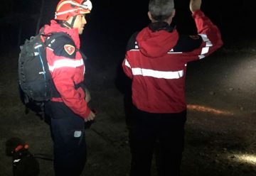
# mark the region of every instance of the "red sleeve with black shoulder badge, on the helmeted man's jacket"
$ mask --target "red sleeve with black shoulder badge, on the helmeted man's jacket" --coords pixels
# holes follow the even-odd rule
[[[80,53],[72,51],[74,49],[72,46],[75,47],[75,44],[70,39],[62,38],[56,40],[51,45],[51,48],[48,48],[48,65],[55,88],[62,101],[75,114],[85,119],[90,114],[90,109],[85,101],[85,92],[81,87],[75,89],[74,80],[77,77],[75,74],[77,74],[78,70],[84,70],[84,63]],[[81,80],[83,80],[83,76],[81,72]]]

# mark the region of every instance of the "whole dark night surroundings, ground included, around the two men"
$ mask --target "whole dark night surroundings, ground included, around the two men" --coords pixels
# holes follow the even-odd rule
[[[85,80],[98,114],[86,132],[88,161],[83,175],[127,176],[130,153],[121,62],[130,35],[150,22],[148,1],[91,1],[92,12],[86,16],[80,39],[88,57]],[[195,34],[189,0],[174,1],[172,25],[179,33]],[[23,138],[31,152],[52,156],[48,126],[33,112],[24,113],[17,65],[19,45],[35,35],[37,26],[54,18],[57,4],[57,0],[6,0],[0,4],[0,176],[11,175],[11,158],[4,153],[8,138]],[[202,0],[201,10],[220,28],[224,45],[208,59],[188,64],[186,97],[188,104],[224,113],[188,108],[183,176],[256,176],[255,9],[253,0]],[[245,162],[240,157],[245,154],[254,159]],[[53,175],[52,163],[39,162],[41,176]],[[155,176],[155,167],[152,172]]]

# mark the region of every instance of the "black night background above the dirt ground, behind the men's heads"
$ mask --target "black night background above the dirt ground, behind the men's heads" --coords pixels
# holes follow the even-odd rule
[[[42,18],[39,26],[49,23],[53,18],[56,0],[9,0],[1,2],[0,25],[1,45],[13,50],[36,33],[38,17],[43,5]],[[191,12],[188,9],[189,0],[176,0],[176,25],[180,33],[196,33]],[[101,50],[102,43],[126,45],[129,36],[149,23],[147,18],[148,1],[92,1],[92,13],[87,16],[87,26],[81,37],[82,48]],[[202,10],[218,25],[225,43],[255,38],[255,5],[253,1],[203,1]],[[102,42],[103,41],[103,42]],[[2,49],[3,49],[2,47]],[[122,48],[119,48],[122,50]],[[113,48],[115,52],[117,48]],[[93,52],[89,50],[88,52]],[[88,53],[87,52],[87,53]],[[98,52],[97,52],[98,53]]]

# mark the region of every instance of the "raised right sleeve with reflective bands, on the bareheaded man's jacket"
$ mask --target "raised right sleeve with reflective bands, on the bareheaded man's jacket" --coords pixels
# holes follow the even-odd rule
[[[192,17],[195,20],[198,35],[202,38],[202,43],[198,48],[187,53],[189,56],[187,62],[202,59],[223,45],[218,27],[205,16],[203,11],[195,11]]]

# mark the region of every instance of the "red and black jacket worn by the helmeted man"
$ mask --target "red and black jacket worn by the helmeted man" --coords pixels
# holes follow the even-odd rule
[[[80,53],[80,38],[78,29],[63,28],[56,21],[50,21],[50,26],[44,26],[44,33],[66,33],[48,41],[46,57],[53,83],[60,96],[51,101],[63,102],[75,114],[86,119],[90,109],[85,101],[85,92],[78,84],[84,82],[85,65]]]

